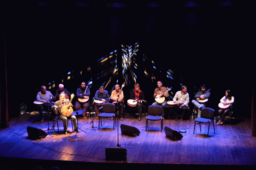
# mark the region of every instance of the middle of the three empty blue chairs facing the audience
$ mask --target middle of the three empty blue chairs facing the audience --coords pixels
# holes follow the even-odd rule
[[[148,107],[148,116],[146,117],[146,131],[148,128],[148,121],[161,121],[161,132],[163,129],[163,107],[158,105],[150,105]],[[161,116],[158,116],[161,115]]]

